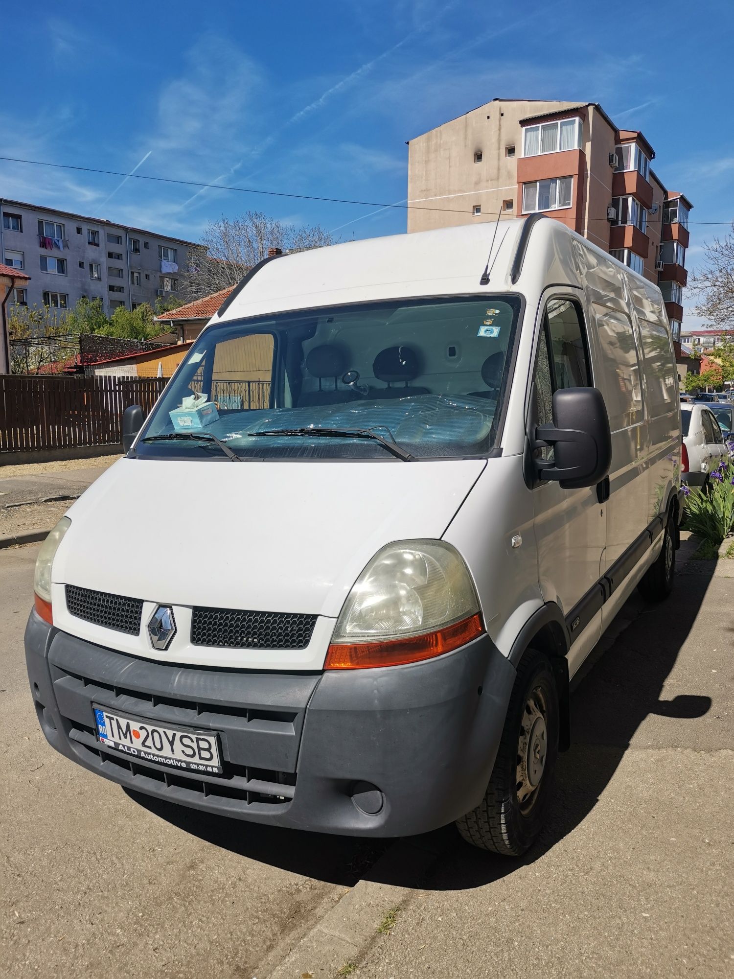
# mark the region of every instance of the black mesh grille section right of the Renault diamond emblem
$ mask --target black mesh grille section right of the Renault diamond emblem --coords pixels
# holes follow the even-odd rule
[[[305,649],[315,625],[315,615],[196,607],[191,641],[234,649]]]

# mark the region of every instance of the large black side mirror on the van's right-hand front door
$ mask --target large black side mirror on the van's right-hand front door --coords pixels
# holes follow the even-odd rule
[[[564,388],[553,396],[553,424],[535,429],[539,445],[553,445],[553,462],[533,460],[541,480],[561,489],[601,483],[612,465],[612,433],[604,398],[597,388]],[[537,444],[534,447],[539,447]]]

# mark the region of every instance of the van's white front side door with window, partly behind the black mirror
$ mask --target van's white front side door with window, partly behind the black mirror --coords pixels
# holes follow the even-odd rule
[[[593,385],[583,307],[573,294],[546,293],[533,373],[535,396],[529,427],[553,421],[553,393]],[[553,458],[551,446],[535,449]],[[545,601],[561,607],[569,627],[571,674],[601,634],[601,562],[606,516],[595,487],[561,489],[537,482],[532,489],[538,582]]]

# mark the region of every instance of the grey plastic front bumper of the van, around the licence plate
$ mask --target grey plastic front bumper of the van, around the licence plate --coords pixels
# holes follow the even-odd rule
[[[257,673],[137,659],[35,612],[25,658],[47,740],[84,768],[210,813],[374,836],[426,832],[479,804],[516,676],[487,636],[409,666]],[[108,749],[92,703],[216,730],[224,774]]]

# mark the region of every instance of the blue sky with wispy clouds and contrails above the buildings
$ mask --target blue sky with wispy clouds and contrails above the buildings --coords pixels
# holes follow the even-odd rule
[[[69,0],[11,5],[3,27],[4,156],[393,203],[406,139],[494,97],[559,98],[641,129],[692,220],[734,217],[730,0]],[[194,240],[248,209],[405,230],[400,210],[119,184],[0,162],[0,196]],[[689,268],[717,229],[691,230]]]

